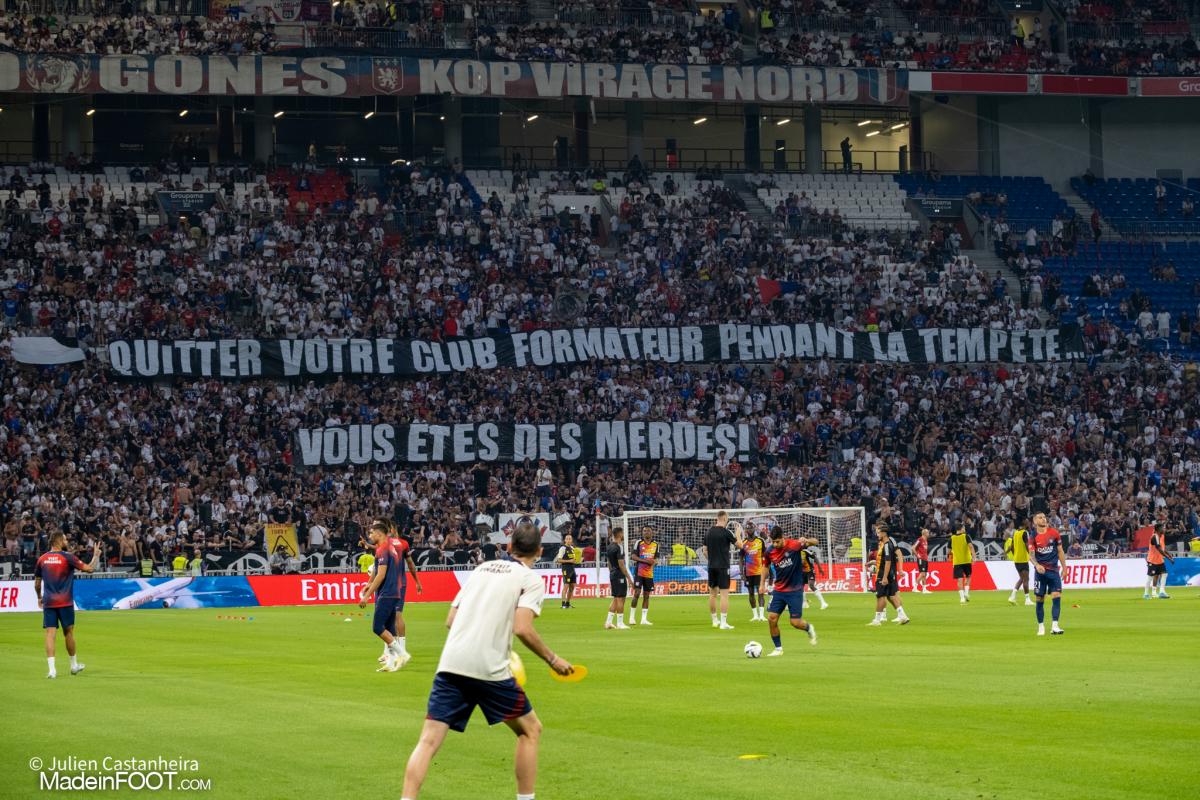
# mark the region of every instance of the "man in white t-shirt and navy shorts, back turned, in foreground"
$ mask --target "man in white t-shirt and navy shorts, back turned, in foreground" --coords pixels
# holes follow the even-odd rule
[[[551,652],[533,626],[545,597],[541,578],[530,569],[541,555],[538,528],[518,524],[509,553],[511,561],[475,567],[450,606],[450,634],[433,678],[421,738],[404,770],[402,800],[416,800],[446,732],[466,730],[475,706],[488,724],[504,722],[517,734],[517,800],[533,799],[541,721],[509,667],[514,633],[558,674],[569,675],[574,667]]]

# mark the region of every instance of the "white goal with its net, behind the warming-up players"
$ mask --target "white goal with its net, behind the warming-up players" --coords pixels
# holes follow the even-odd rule
[[[620,517],[622,548],[626,559],[649,525],[659,543],[654,567],[654,593],[695,595],[708,593],[708,564],[704,559],[704,534],[716,521],[720,509],[678,509],[628,511]],[[751,530],[766,540],[782,529],[788,539],[815,539],[820,557],[817,584],[821,591],[864,591],[866,589],[866,513],[862,506],[726,509],[732,523],[740,523],[745,535]],[[616,522],[616,519],[613,521]],[[734,593],[744,590],[740,553],[730,554]],[[630,573],[636,564],[629,563]]]

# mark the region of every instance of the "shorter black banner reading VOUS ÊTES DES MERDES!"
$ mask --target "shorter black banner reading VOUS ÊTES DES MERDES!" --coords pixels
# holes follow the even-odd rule
[[[749,425],[566,422],[343,425],[296,432],[296,467],[470,462],[750,461]]]

